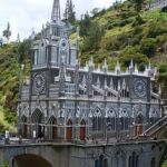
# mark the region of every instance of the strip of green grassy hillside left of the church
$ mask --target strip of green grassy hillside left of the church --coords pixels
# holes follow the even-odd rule
[[[0,124],[11,129],[16,121],[17,98],[19,89],[19,56],[14,43],[0,48]]]

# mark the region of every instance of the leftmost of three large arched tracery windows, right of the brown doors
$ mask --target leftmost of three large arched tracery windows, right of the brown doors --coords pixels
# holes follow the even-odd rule
[[[99,109],[95,110],[92,117],[92,130],[100,131],[102,130],[102,116]]]

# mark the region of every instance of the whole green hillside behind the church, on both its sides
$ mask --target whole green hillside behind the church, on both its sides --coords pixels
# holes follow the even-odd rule
[[[81,65],[94,57],[97,66],[107,58],[109,68],[116,61],[122,69],[132,58],[144,70],[149,61],[159,69],[158,80],[167,95],[167,12],[160,10],[136,12],[134,3],[126,1],[94,13],[86,35],[80,35]],[[78,21],[77,26],[82,26]],[[77,33],[71,35],[75,40]],[[21,43],[22,45],[22,43]],[[16,110],[19,92],[19,48],[10,43],[0,48],[0,125],[11,128],[17,122]],[[24,48],[28,52],[28,48]],[[26,73],[29,71],[29,59],[26,58]]]

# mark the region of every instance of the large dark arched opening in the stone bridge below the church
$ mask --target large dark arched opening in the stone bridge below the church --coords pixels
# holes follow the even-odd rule
[[[45,158],[37,155],[19,155],[12,160],[13,167],[52,167]]]

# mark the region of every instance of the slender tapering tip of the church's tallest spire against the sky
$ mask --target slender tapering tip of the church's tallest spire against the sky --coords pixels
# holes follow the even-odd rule
[[[60,2],[59,2],[59,0],[53,0],[51,21],[52,22],[60,21]]]

